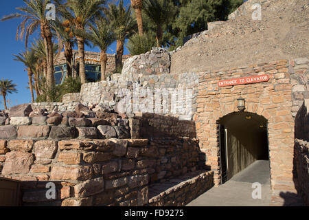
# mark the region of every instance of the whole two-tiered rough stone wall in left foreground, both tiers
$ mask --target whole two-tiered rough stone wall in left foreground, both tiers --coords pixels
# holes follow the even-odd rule
[[[162,115],[126,119],[81,104],[75,110],[36,115],[42,112],[23,104],[3,116],[0,176],[21,181],[23,206],[144,206],[152,184],[205,168],[198,140],[185,137],[190,129],[176,130],[194,129],[192,122]],[[137,139],[144,118],[172,132]],[[201,177],[208,184],[198,186],[199,193],[212,186],[211,178]],[[46,196],[50,183],[54,199]]]

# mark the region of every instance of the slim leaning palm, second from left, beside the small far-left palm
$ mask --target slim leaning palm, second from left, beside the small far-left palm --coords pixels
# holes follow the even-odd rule
[[[34,65],[36,64],[36,61],[38,61],[38,58],[36,56],[35,50],[26,50],[25,52],[21,52],[18,55],[13,54],[16,58],[14,58],[14,61],[20,61],[23,63],[27,69],[28,72],[28,78],[29,78],[29,87],[31,92],[31,98],[32,102],[34,102],[34,93],[33,93],[33,87],[32,87],[32,76],[34,73]]]

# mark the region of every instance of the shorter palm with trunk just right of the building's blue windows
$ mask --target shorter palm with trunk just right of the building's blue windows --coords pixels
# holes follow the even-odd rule
[[[84,33],[85,39],[88,39],[94,46],[100,47],[100,63],[101,63],[101,80],[106,80],[106,50],[109,45],[115,41],[111,24],[106,19],[97,19],[94,25],[89,25],[89,32]]]

